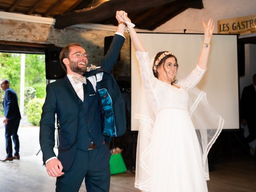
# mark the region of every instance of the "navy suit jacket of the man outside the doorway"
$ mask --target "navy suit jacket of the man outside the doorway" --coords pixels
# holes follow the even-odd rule
[[[11,88],[5,90],[3,106],[4,116],[8,118],[8,120],[12,120],[14,118],[21,118],[20,109],[18,106],[18,96],[16,92]]]

